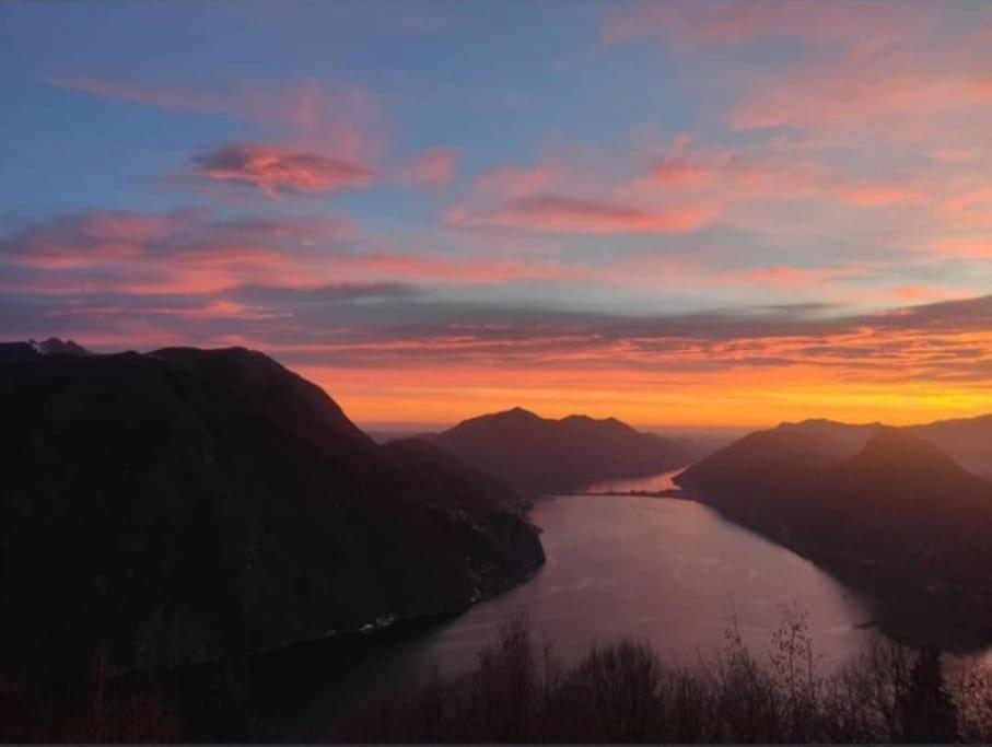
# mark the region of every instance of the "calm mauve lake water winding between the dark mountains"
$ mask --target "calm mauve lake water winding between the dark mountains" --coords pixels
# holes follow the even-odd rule
[[[646,486],[646,487],[645,487]],[[657,490],[670,474],[598,490]],[[479,647],[500,625],[524,612],[556,652],[570,657],[594,641],[633,635],[663,658],[691,664],[725,644],[730,616],[755,653],[770,647],[782,608],[807,615],[824,666],[854,654],[871,621],[851,592],[793,552],[743,529],[712,509],[680,499],[572,495],[539,501],[544,569],[528,583],[402,643],[389,644],[349,677],[348,698],[361,699],[437,666],[470,670]],[[328,693],[307,721],[340,704]],[[301,735],[302,736],[302,735]]]

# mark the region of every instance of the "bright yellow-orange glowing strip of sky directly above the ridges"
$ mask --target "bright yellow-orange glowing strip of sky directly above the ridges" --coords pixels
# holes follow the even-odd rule
[[[665,385],[629,372],[573,372],[562,376],[491,370],[383,371],[301,367],[355,422],[454,424],[467,418],[524,407],[547,418],[615,417],[639,428],[767,428],[784,421],[828,418],[908,425],[992,412],[992,388],[948,390],[938,383],[841,384],[822,372],[735,372]],[[603,382],[596,385],[596,376]]]

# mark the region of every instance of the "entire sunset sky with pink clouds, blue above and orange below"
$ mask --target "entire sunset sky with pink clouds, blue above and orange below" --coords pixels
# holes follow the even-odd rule
[[[992,3],[5,2],[0,338],[363,424],[992,411]]]

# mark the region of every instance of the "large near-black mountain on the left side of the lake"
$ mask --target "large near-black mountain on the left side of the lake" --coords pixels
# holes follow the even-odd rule
[[[430,444],[376,445],[260,353],[3,360],[2,676],[452,614],[544,561],[511,490]]]

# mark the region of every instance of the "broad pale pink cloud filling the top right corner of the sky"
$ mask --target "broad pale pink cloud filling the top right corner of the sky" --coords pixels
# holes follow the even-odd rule
[[[931,2],[719,5],[712,16],[749,12],[757,19],[738,42],[797,42],[791,65],[739,72],[731,125],[742,130],[793,128],[835,142],[898,138],[926,141],[934,151],[968,150],[983,130],[961,125],[981,112],[989,115],[992,59],[983,9],[958,5],[957,13]],[[707,15],[701,8],[713,7],[674,4],[669,12],[699,20]],[[708,17],[702,26],[712,21]],[[690,46],[696,38],[678,24],[667,31],[684,39],[689,34]]]

